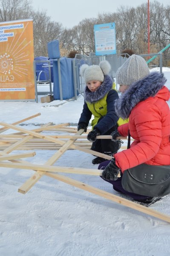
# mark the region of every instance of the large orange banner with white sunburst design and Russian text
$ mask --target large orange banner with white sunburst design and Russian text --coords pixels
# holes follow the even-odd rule
[[[0,100],[35,100],[33,21],[0,22]]]

